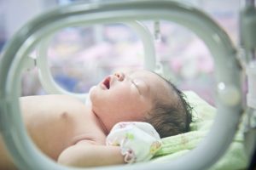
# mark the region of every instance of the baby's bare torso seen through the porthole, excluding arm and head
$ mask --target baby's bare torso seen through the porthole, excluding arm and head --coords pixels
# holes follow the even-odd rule
[[[96,116],[77,99],[64,95],[32,96],[20,99],[20,104],[32,140],[55,160],[61,151],[82,139],[105,144],[106,135]]]

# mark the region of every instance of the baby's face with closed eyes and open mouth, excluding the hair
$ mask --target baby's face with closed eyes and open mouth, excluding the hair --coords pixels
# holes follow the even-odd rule
[[[116,72],[90,94],[92,111],[108,132],[117,122],[143,121],[155,99],[166,96],[167,83],[150,71]]]

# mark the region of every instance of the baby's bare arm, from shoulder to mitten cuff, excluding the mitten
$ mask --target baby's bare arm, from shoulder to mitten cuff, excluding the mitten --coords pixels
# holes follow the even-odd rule
[[[62,151],[58,162],[71,167],[93,167],[125,164],[119,146],[97,144],[82,140]]]

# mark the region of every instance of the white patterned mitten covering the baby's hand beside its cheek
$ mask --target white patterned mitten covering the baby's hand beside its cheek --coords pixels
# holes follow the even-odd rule
[[[107,145],[119,145],[125,162],[150,160],[160,150],[161,140],[147,122],[119,122],[107,137]]]

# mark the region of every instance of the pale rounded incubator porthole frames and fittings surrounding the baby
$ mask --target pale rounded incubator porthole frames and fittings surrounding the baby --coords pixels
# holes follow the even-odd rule
[[[134,20],[136,18],[136,20]],[[50,74],[46,59],[49,37],[67,26],[124,23],[137,31],[143,41],[144,67],[155,71],[159,68],[155,59],[154,44],[147,27],[140,20],[168,20],[201,38],[207,45],[216,65],[217,115],[205,139],[184,156],[167,162],[147,162],[131,166],[97,167],[96,169],[207,169],[224,155],[236,134],[241,115],[247,114],[245,146],[249,160],[255,159],[256,127],[256,9],[254,1],[247,1],[241,10],[241,48],[236,48],[230,37],[211,18],[188,4],[172,1],[117,1],[101,3],[73,3],[55,8],[27,23],[3,49],[0,63],[0,132],[20,169],[71,169],[51,161],[32,144],[20,116],[20,77],[24,68],[38,66],[41,83],[49,94],[69,94],[85,100],[87,94],[72,94],[61,88]],[[155,22],[157,30],[158,23]],[[148,36],[149,35],[149,36]],[[157,37],[157,31],[155,36]],[[37,49],[37,59],[28,58]],[[241,53],[237,53],[241,52]],[[239,56],[237,54],[240,54]],[[241,91],[241,73],[247,74],[246,94]],[[209,145],[211,147],[209,147]],[[255,160],[254,160],[255,161]],[[253,164],[253,160],[251,161]],[[255,166],[255,165],[254,165]],[[77,169],[77,168],[73,168]],[[94,168],[95,169],[95,168]]]

